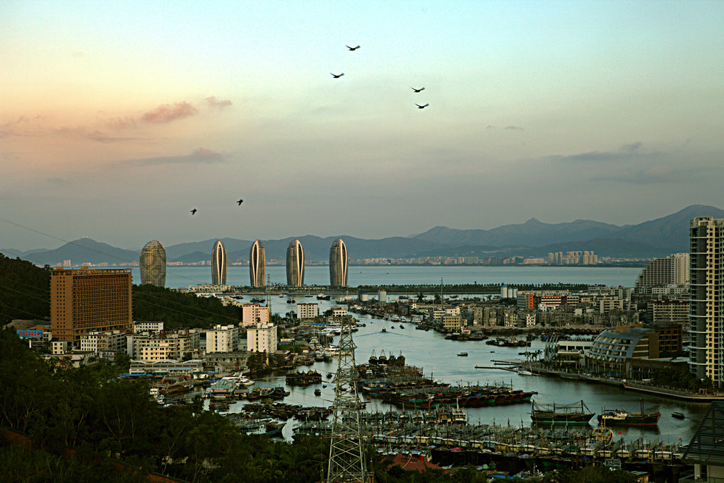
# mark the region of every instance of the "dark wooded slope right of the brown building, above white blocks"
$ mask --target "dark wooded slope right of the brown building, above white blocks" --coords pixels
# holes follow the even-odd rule
[[[133,285],[133,319],[163,321],[164,328],[209,328],[241,322],[241,309],[218,298],[197,297],[155,285]]]

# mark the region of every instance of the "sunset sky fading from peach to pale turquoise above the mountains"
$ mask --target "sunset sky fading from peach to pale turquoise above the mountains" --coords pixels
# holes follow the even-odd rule
[[[720,0],[4,0],[0,248],[724,208],[722,25]]]

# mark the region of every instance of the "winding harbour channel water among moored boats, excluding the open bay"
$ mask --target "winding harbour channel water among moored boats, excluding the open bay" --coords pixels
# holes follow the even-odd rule
[[[274,312],[292,309],[291,305],[287,305],[283,301],[281,304],[274,303],[275,300],[281,301],[281,299],[272,299],[274,304],[272,310]],[[320,312],[334,305],[330,301],[317,302],[320,303]],[[360,324],[366,324],[365,327],[360,327],[359,331],[353,334],[353,340],[357,346],[355,361],[358,364],[367,362],[372,350],[376,351],[377,356],[384,350],[388,355],[399,356],[402,353],[405,356],[406,364],[420,367],[424,370],[426,376],[432,376],[436,380],[448,382],[451,385],[466,385],[468,383],[500,384],[503,382],[505,385],[512,384],[515,389],[536,391],[537,394],[532,399],[538,403],[555,402],[565,404],[584,400],[586,406],[597,414],[601,413],[602,408],[639,411],[641,400],[643,400],[645,411],[661,412],[662,416],[657,428],[615,428],[615,437],[623,436],[627,442],[636,440],[638,437],[644,437],[647,440],[659,438],[662,442],[673,443],[679,442],[679,438],[681,438],[681,441],[686,444],[691,440],[691,436],[696,431],[696,427],[698,427],[708,406],[706,403],[687,403],[669,398],[644,395],[610,385],[564,380],[557,377],[526,377],[505,369],[476,369],[475,366],[494,366],[494,361],[521,361],[523,356],[518,353],[523,352],[526,348],[500,348],[487,345],[484,341],[445,340],[444,335],[432,330],[429,332],[417,330],[414,324],[404,323],[402,324],[404,329],[402,329],[400,328],[400,322],[392,323],[371,316],[354,315]],[[383,327],[387,332],[382,332]],[[337,340],[338,337],[335,337],[334,342],[336,343]],[[534,340],[527,350],[543,348],[544,342]],[[458,353],[461,352],[468,353],[468,356],[458,356]],[[323,376],[326,376],[328,372],[334,373],[337,371],[337,362],[336,360],[328,363],[318,362],[313,366],[300,369],[316,369]],[[285,377],[283,375],[264,377],[256,379],[256,382],[261,387],[282,386],[285,385]],[[287,390],[291,393],[284,398],[283,402],[303,406],[331,406],[334,401],[334,383],[328,382],[328,379],[323,377],[322,384],[327,385],[327,387],[323,388],[321,385],[308,387],[287,386]],[[321,396],[319,397],[314,395],[314,390],[317,388],[321,389]],[[208,405],[208,402],[206,404]],[[241,406],[243,406],[242,401],[233,404],[230,411],[239,412]],[[377,399],[370,400],[367,405],[367,411],[390,411],[390,409],[395,408]],[[674,419],[671,416],[673,411],[684,413],[686,418],[683,420]],[[514,426],[530,426],[530,412],[530,403],[469,408],[467,410],[468,421],[471,424],[511,424]],[[290,439],[292,435],[294,424],[296,424],[296,421],[293,419],[287,422],[284,429],[287,439]],[[592,424],[596,424],[595,419],[592,419]],[[620,434],[618,434],[619,431]]]

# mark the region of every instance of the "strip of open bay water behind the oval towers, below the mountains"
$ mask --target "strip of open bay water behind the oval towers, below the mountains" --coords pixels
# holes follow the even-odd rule
[[[348,286],[359,285],[445,285],[460,284],[557,284],[576,283],[633,287],[641,267],[616,266],[350,266]],[[131,270],[134,283],[140,283],[138,267]],[[285,266],[268,265],[271,285],[285,285]],[[188,287],[211,283],[211,266],[168,266],[166,286]],[[329,285],[329,266],[304,267],[304,283]],[[227,269],[227,285],[249,285],[249,267],[232,265]]]

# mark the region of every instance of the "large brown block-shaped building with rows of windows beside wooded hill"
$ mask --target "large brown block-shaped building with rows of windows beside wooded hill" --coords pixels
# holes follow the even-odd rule
[[[130,329],[131,270],[54,269],[50,320],[54,339],[72,342],[90,332]]]

